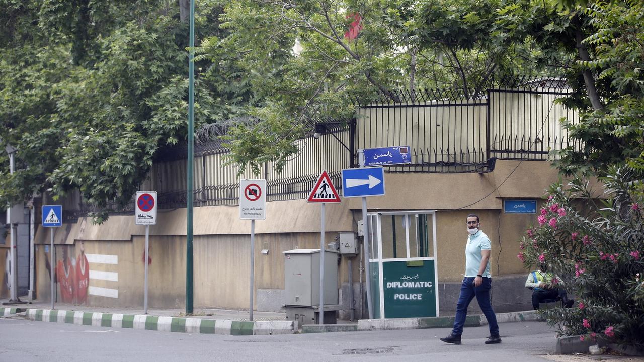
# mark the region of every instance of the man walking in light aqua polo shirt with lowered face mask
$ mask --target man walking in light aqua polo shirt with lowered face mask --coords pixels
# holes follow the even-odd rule
[[[469,302],[476,296],[478,306],[485,314],[485,318],[488,319],[489,338],[485,341],[486,345],[501,343],[497,316],[492,309],[489,295],[489,291],[492,289],[492,278],[489,274],[489,256],[491,254],[489,238],[480,231],[480,220],[477,214],[469,214],[466,220],[469,236],[468,243],[465,245],[465,278],[460,285],[454,328],[447,337],[440,338],[440,340],[460,345],[460,335],[463,333],[465,318],[468,316]]]

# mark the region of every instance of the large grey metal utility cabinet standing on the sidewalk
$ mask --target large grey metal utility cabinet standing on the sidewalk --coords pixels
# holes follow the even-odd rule
[[[284,253],[284,286],[287,319],[300,324],[317,323],[319,318],[320,249],[294,249]],[[338,252],[325,250],[325,324],[336,323]]]

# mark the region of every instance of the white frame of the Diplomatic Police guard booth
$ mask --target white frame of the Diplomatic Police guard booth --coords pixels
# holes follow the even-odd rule
[[[413,254],[418,255],[419,251],[421,251],[421,242],[422,240],[419,240],[419,228],[425,227],[426,225],[420,225],[419,223],[419,215],[426,215],[426,218],[430,218],[431,216],[431,231],[428,231],[425,228],[426,231],[426,236],[429,236],[429,233],[431,232],[431,239],[432,239],[432,253],[431,256],[413,256]],[[386,219],[388,216],[393,216],[392,217],[392,222],[386,222]],[[375,212],[375,213],[367,213],[367,218],[369,220],[369,240],[370,240],[370,253],[371,255],[369,256],[369,261],[370,265],[377,265],[378,270],[374,271],[372,270],[372,275],[377,275],[378,276],[378,292],[379,292],[379,305],[374,305],[374,312],[377,313],[379,309],[379,318],[399,318],[398,316],[387,316],[385,314],[385,298],[384,298],[384,275],[383,275],[383,265],[384,263],[390,263],[390,262],[413,262],[413,261],[421,261],[421,260],[433,260],[434,264],[434,291],[435,291],[435,306],[436,306],[436,314],[435,316],[439,316],[439,292],[438,292],[438,263],[437,263],[437,247],[436,247],[436,211],[435,210],[412,210],[412,211],[380,211],[380,212]],[[393,234],[399,234],[395,230],[395,226],[392,227],[392,225],[396,225],[397,221],[400,221],[401,226],[404,227],[404,238],[405,238],[405,255],[404,256],[399,256],[397,252],[391,252],[392,250],[388,249],[387,250],[387,255],[384,255],[383,252],[383,225],[385,226],[386,229],[393,229]],[[426,219],[425,219],[426,220]],[[411,230],[410,230],[411,229]],[[386,230],[388,232],[391,232],[391,230]],[[386,238],[385,238],[386,240]],[[390,240],[386,240],[390,241]],[[392,249],[398,249],[395,245],[397,243],[394,242]],[[426,245],[429,246],[429,245]],[[427,248],[426,248],[427,249]],[[427,254],[428,250],[425,249],[424,254]],[[393,254],[393,255],[392,255]],[[377,274],[376,274],[377,273]],[[368,279],[368,282],[372,280],[372,278]],[[373,289],[372,289],[373,291]],[[374,313],[374,314],[375,314]],[[374,318],[377,318],[374,316]]]

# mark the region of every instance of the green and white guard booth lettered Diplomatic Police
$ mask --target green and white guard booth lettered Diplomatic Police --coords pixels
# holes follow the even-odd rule
[[[374,318],[438,316],[435,211],[367,218]]]

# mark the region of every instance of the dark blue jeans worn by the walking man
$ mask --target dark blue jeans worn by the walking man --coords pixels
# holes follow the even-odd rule
[[[474,278],[463,278],[460,285],[459,301],[456,303],[456,318],[454,319],[454,329],[452,334],[460,336],[463,333],[465,318],[468,316],[469,302],[477,297],[478,307],[488,319],[490,336],[498,336],[497,316],[492,309],[489,291],[492,289],[492,278],[483,278],[483,282],[478,287],[474,286]]]

